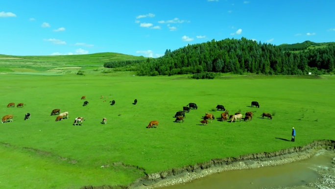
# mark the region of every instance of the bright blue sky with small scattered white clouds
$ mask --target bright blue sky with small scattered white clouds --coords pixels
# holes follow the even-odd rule
[[[335,42],[335,0],[0,0],[0,54],[159,57],[188,44]]]

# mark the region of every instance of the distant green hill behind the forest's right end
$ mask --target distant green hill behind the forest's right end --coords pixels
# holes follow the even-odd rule
[[[307,49],[314,49],[314,48],[324,48],[329,46],[335,46],[335,42],[327,42],[327,43],[315,43],[311,41],[305,41],[303,43],[295,43],[295,44],[282,44],[278,45],[284,51],[304,51]]]

